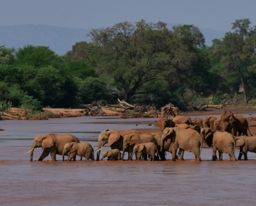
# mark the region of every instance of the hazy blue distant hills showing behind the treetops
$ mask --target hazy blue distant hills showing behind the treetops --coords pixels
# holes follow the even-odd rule
[[[168,24],[171,29],[173,25]],[[0,46],[6,47],[22,47],[26,44],[35,46],[49,46],[55,53],[59,55],[65,54],[72,49],[72,45],[80,41],[91,41],[86,38],[86,34],[91,29],[75,29],[58,26],[46,25],[17,25],[17,26],[0,26]],[[216,31],[212,29],[200,29],[205,37],[206,45],[212,45],[215,38],[221,39],[224,31]]]

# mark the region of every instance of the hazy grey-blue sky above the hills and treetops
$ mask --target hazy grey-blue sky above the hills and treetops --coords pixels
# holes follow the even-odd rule
[[[255,0],[2,0],[0,25],[98,28],[144,19],[228,31],[236,19],[255,25],[255,8]]]

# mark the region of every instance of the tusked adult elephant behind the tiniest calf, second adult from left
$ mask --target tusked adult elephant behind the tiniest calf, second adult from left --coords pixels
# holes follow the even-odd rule
[[[124,131],[116,131],[116,130],[108,130],[106,129],[103,132],[100,132],[98,138],[98,147],[97,147],[97,161],[99,161],[100,150],[105,144],[109,144],[111,149],[119,149],[123,151],[123,140],[124,136],[127,134],[140,134],[139,131],[133,129],[127,129]],[[95,150],[95,151],[96,151]],[[125,151],[129,151],[129,147],[125,149]]]

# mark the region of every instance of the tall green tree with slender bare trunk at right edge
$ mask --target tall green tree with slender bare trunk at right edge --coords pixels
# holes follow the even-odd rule
[[[245,104],[247,104],[247,91],[244,75],[247,70],[248,61],[255,55],[255,33],[256,27],[250,27],[249,19],[236,20],[233,24],[233,32],[227,32],[215,53],[221,56],[221,63],[227,71],[235,71],[239,75],[244,90]],[[254,40],[253,40],[254,39]],[[249,41],[250,40],[250,41]],[[254,41],[254,47],[248,45]],[[245,68],[246,69],[243,69]],[[253,68],[251,66],[250,68]]]

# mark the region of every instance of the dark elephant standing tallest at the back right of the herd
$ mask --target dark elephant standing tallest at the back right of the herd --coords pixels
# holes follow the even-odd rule
[[[247,130],[249,130],[249,125],[248,125],[248,121],[247,119],[242,116],[242,115],[236,115],[234,116],[234,114],[232,112],[228,112],[224,111],[221,119],[220,119],[220,124],[223,122],[227,122],[227,123],[231,123],[232,124],[232,134],[234,136],[236,136],[236,132],[238,132],[238,136],[240,136],[242,133],[245,136],[248,136]],[[250,132],[250,130],[249,130]],[[250,132],[251,134],[251,132]],[[251,134],[252,136],[252,134]]]

